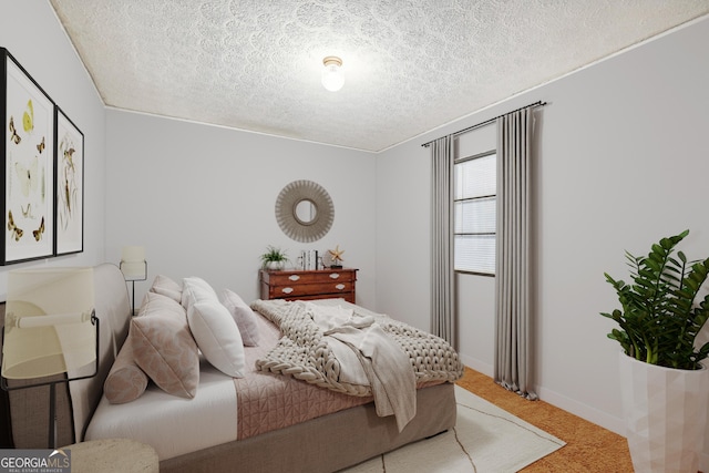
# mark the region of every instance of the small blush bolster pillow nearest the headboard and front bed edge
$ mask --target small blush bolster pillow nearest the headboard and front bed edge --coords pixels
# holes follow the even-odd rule
[[[135,364],[133,345],[125,340],[103,383],[103,393],[112,404],[135,401],[147,388],[147,374]]]

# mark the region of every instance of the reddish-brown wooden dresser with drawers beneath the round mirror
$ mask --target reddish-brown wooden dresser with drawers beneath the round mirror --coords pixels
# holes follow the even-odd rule
[[[261,269],[261,299],[329,299],[354,304],[357,269],[271,271]]]

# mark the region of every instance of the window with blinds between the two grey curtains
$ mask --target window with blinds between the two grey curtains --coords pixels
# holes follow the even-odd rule
[[[496,153],[455,161],[454,266],[456,271],[495,274]]]

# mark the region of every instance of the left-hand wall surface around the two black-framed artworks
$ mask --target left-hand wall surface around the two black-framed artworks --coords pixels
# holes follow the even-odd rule
[[[49,2],[3,2],[0,47],[83,132],[85,153],[84,253],[0,267],[0,300],[4,300],[11,269],[92,266],[104,260],[105,109]]]

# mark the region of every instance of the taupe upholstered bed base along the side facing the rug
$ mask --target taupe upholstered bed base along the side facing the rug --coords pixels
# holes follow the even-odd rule
[[[160,463],[161,472],[333,472],[455,425],[452,383],[418,391],[417,415],[399,433],[369,403]]]

